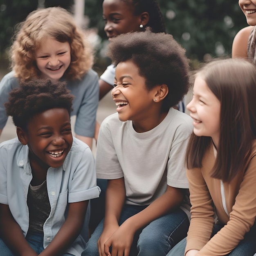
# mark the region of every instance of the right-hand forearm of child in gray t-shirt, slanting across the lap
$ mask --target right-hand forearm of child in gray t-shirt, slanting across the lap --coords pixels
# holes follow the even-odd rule
[[[130,217],[126,222],[136,231],[148,225],[151,221],[163,216],[172,209],[178,207],[183,200],[182,189],[167,186],[166,192],[152,202],[143,211]]]

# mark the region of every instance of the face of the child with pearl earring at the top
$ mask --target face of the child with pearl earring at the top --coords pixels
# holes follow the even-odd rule
[[[108,38],[139,30],[141,19],[134,15],[132,4],[128,5],[122,0],[104,0],[102,7],[104,31]]]

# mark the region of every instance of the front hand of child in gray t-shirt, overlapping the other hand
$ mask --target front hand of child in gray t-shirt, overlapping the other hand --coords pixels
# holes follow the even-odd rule
[[[110,255],[109,247],[112,246],[111,256],[129,256],[135,231],[125,221],[104,244],[104,252]]]

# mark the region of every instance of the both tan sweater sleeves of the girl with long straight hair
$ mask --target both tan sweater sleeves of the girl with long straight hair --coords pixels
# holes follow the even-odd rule
[[[188,171],[188,176],[191,185],[191,204],[193,205],[191,214],[193,217],[191,217],[192,225],[189,228],[186,252],[189,249],[199,249],[200,252],[197,255],[226,255],[243,240],[245,234],[254,225],[256,216],[256,157],[251,158],[243,175],[235,204],[229,213],[227,225],[211,239],[209,239],[209,235],[212,232],[213,222],[211,225],[209,224],[209,211],[206,207],[207,200],[210,199],[209,192],[203,185],[203,177],[198,183],[195,179],[199,175],[194,175],[193,171]],[[198,187],[196,188],[196,186]]]

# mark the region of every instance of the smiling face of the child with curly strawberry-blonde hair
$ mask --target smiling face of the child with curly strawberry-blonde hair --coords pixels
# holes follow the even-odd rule
[[[71,62],[70,44],[46,38],[36,50],[36,65],[43,78],[61,79]]]

